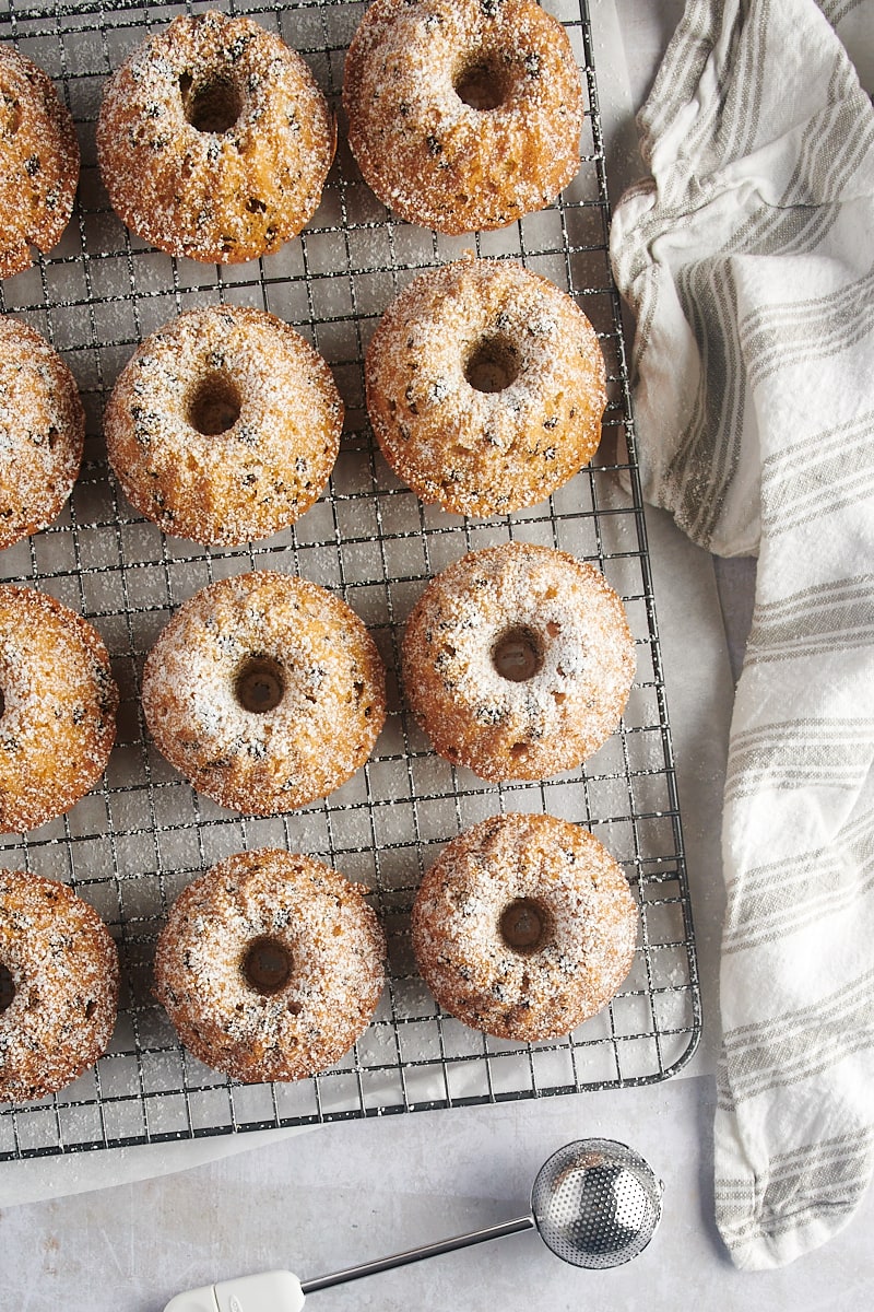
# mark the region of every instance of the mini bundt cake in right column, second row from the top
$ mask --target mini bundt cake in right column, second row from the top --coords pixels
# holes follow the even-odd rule
[[[463,258],[414,278],[371,338],[366,383],[397,476],[466,516],[562,487],[595,454],[607,403],[588,319],[515,261]]]

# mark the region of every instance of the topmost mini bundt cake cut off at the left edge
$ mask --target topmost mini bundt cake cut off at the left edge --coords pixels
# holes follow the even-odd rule
[[[79,184],[73,119],[51,77],[0,45],[0,278],[47,253],[69,223]]]

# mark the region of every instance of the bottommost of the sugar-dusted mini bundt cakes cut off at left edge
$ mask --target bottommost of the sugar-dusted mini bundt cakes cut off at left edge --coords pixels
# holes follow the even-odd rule
[[[0,1102],[45,1098],[106,1051],[118,1005],[118,953],[100,916],[67,884],[0,870]]]

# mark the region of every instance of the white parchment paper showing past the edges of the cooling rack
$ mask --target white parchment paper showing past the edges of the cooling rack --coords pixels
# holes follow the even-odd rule
[[[611,195],[642,169],[637,155],[626,50],[615,0],[591,5]],[[681,1076],[714,1068],[715,991],[722,908],[719,816],[732,677],[713,562],[659,512],[647,512],[659,636],[696,925],[705,1027]],[[223,1134],[0,1164],[0,1207],[144,1179],[265,1145],[301,1130]]]

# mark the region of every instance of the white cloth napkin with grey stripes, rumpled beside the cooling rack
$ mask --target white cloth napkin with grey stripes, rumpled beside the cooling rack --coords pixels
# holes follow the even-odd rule
[[[687,0],[613,216],[650,501],[759,556],[722,846],[715,1214],[778,1266],[874,1173],[871,0]],[[861,64],[860,64],[861,68]]]

